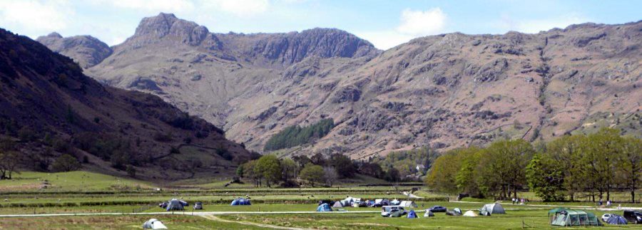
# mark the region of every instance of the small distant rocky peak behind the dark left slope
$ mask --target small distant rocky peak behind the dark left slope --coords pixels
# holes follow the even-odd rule
[[[40,36],[36,41],[43,43],[51,51],[73,58],[82,68],[96,66],[112,53],[106,43],[92,36],[63,38],[59,33],[54,32],[47,36]]]

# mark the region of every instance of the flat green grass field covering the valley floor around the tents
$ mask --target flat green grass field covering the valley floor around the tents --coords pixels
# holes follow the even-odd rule
[[[366,181],[368,178],[364,178]],[[39,187],[47,182],[46,189]],[[364,180],[362,180],[363,182]],[[384,218],[380,208],[345,207],[332,213],[277,214],[282,211],[315,211],[320,199],[340,200],[347,196],[363,199],[405,198],[400,194],[412,186],[361,187],[358,180],[332,188],[253,188],[245,184],[225,188],[220,182],[185,180],[170,187],[134,179],[123,179],[91,172],[39,173],[24,172],[16,179],[0,181],[0,214],[77,214],[78,216],[29,216],[0,217],[0,229],[141,229],[141,224],[151,218],[160,219],[170,229],[265,229],[292,227],[312,229],[550,229],[547,210],[552,207],[595,208],[592,202],[543,203],[532,199],[533,194],[521,193],[533,202],[516,205],[504,202],[505,215],[454,217],[437,214],[419,219]],[[205,184],[200,187],[200,183]],[[176,186],[182,184],[182,186]],[[220,185],[220,186],[219,186]],[[34,187],[38,187],[34,189]],[[163,187],[157,191],[156,187]],[[477,210],[489,199],[466,198],[464,202],[447,202],[451,194],[434,194],[425,188],[415,192],[422,199],[414,199],[417,211],[440,205],[462,211]],[[626,198],[625,192],[613,193]],[[253,205],[230,206],[235,197],[250,197]],[[184,212],[164,211],[158,203],[172,198],[182,198],[193,204],[203,202],[203,210]],[[546,206],[547,205],[547,206]],[[623,204],[625,207],[642,207],[640,204]],[[263,214],[238,214],[257,212]],[[355,211],[370,211],[357,213]],[[604,211],[592,210],[601,215]],[[216,212],[215,215],[212,215]],[[221,212],[234,212],[233,214]],[[621,214],[621,211],[610,211]],[[118,213],[114,215],[113,213]],[[102,214],[100,216],[81,216]],[[184,214],[184,215],[183,215]],[[194,215],[194,216],[192,216]],[[601,228],[613,226],[602,226]],[[629,225],[625,228],[633,228]],[[616,228],[616,227],[615,227]]]

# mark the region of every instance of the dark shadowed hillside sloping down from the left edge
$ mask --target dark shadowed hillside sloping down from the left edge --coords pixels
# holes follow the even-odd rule
[[[25,168],[46,171],[71,154],[92,171],[177,179],[230,174],[250,157],[205,120],[155,95],[104,86],[71,58],[4,29],[0,70],[0,136]]]

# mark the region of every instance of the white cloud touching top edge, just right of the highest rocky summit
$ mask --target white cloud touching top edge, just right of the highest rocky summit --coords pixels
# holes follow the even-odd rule
[[[255,16],[267,11],[270,2],[267,0],[203,0],[205,7],[224,11],[239,17]]]

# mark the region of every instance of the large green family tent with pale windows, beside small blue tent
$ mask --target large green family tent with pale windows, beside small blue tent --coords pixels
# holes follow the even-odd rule
[[[556,226],[601,226],[597,216],[591,212],[574,209],[557,208],[549,211],[551,225]]]

